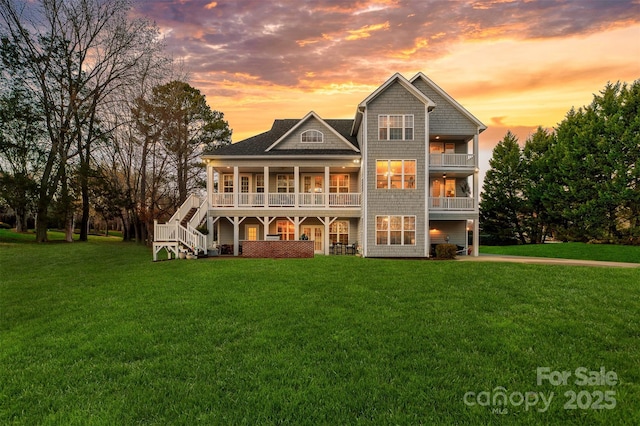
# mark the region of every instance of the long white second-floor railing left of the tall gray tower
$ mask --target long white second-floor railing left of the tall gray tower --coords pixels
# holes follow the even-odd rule
[[[236,203],[237,199],[237,203]],[[268,203],[265,203],[265,199]],[[328,203],[327,203],[328,199]],[[360,207],[359,192],[345,193],[214,193],[211,207]]]

